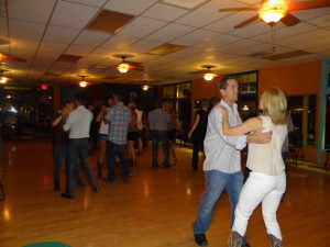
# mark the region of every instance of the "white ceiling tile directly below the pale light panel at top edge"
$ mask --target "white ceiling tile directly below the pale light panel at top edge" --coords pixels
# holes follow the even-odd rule
[[[146,18],[153,18],[153,19],[172,22],[188,12],[189,12],[188,10],[184,10],[180,8],[156,3],[153,7],[151,7],[148,10],[143,12],[142,15]]]

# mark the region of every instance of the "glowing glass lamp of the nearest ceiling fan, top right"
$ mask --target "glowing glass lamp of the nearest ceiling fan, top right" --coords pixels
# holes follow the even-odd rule
[[[261,3],[258,18],[266,23],[276,23],[286,15],[286,0],[264,0]]]

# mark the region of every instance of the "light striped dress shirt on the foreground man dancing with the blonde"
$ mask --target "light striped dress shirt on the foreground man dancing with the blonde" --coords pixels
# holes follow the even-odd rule
[[[231,126],[242,123],[238,112],[238,104],[234,103],[230,108],[223,100],[219,104],[227,109]],[[222,112],[217,105],[209,113],[207,134],[204,141],[206,154],[204,170],[219,170],[226,173],[234,173],[241,170],[240,150],[246,146],[246,135],[223,135]]]

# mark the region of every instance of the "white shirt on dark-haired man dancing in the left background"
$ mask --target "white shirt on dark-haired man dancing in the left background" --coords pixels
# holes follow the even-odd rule
[[[88,138],[90,123],[92,121],[92,113],[84,105],[79,105],[70,112],[66,123],[64,124],[64,131],[69,131],[69,138]]]

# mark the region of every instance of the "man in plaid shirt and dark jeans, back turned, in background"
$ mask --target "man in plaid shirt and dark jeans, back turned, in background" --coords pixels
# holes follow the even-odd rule
[[[116,156],[120,159],[123,171],[123,179],[131,178],[129,161],[124,158],[124,148],[128,143],[128,130],[131,121],[131,110],[127,108],[120,94],[112,96],[113,106],[107,112],[105,120],[109,121],[109,137],[107,143],[107,166],[108,176],[106,181],[112,182],[116,179],[114,164]]]

